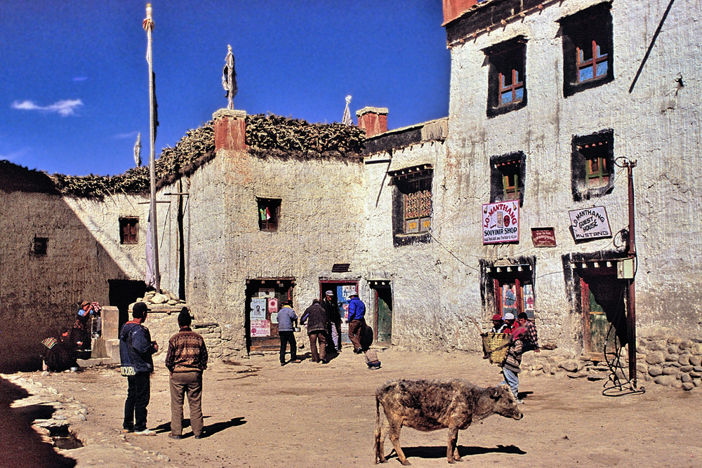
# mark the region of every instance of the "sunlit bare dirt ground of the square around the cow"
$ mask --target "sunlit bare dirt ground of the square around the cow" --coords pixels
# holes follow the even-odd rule
[[[211,363],[203,392],[208,436],[200,440],[192,437],[190,427],[183,440],[168,439],[170,396],[162,362],[152,377],[148,422],[159,433],[152,437],[121,434],[126,380],[116,367],[24,376],[88,408],[87,421],[72,425],[85,446],[60,450],[60,456],[44,466],[102,468],[370,467],[374,392],[383,382],[460,377],[486,387],[501,381],[499,368],[477,354],[387,349],[379,356],[380,370],[367,370],[362,356],[348,348],[326,365],[305,359],[281,367],[276,354]],[[523,375],[524,419],[492,416],[459,432],[461,466],[702,466],[700,392],[651,384],[644,394],[609,397],[602,395],[602,385],[603,381]],[[17,398],[22,397],[19,393]],[[12,433],[21,432],[22,422],[13,410],[2,416],[14,424]],[[8,447],[16,437],[6,429],[0,439],[3,450],[20,450],[17,445]],[[446,430],[405,428],[400,441],[413,466],[447,466]],[[35,445],[34,455],[48,446],[39,441]],[[386,455],[391,448],[386,442]],[[0,466],[18,466],[8,460],[0,457]],[[393,453],[383,466],[401,465]]]

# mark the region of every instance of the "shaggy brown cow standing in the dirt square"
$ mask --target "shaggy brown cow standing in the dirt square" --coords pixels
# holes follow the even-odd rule
[[[380,422],[380,405],[385,424]],[[390,436],[399,461],[410,464],[399,446],[402,426],[420,431],[449,428],[446,457],[449,463],[461,462],[456,441],[458,429],[466,429],[473,421],[490,415],[520,420],[524,416],[506,385],[476,387],[466,380],[399,380],[388,382],[376,390],[376,463],[385,463],[383,443]]]

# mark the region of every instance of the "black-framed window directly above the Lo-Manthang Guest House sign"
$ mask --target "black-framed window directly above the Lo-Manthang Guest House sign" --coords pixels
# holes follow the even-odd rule
[[[614,132],[573,138],[573,199],[581,201],[611,192],[614,186]]]

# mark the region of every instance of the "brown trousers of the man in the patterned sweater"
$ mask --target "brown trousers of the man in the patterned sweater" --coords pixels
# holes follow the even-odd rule
[[[183,402],[187,395],[190,405],[190,427],[196,436],[202,435],[202,373],[174,372],[171,374],[171,434],[183,435]]]

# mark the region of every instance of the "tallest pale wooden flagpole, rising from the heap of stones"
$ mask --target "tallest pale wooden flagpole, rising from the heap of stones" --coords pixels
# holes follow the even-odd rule
[[[154,279],[156,281],[156,292],[161,292],[161,270],[159,269],[159,234],[158,234],[158,222],[156,218],[156,116],[154,115],[155,102],[155,92],[154,92],[154,64],[152,62],[151,55],[151,33],[154,30],[154,20],[152,18],[152,8],[151,4],[146,4],[146,18],[142,23],[146,36],[148,39],[147,50],[146,50],[146,60],[149,62],[149,117],[150,117],[150,131],[151,131],[151,152],[149,154],[149,178],[151,180],[151,194],[150,194],[150,222],[151,222],[151,234],[152,234],[152,252],[154,255]]]

